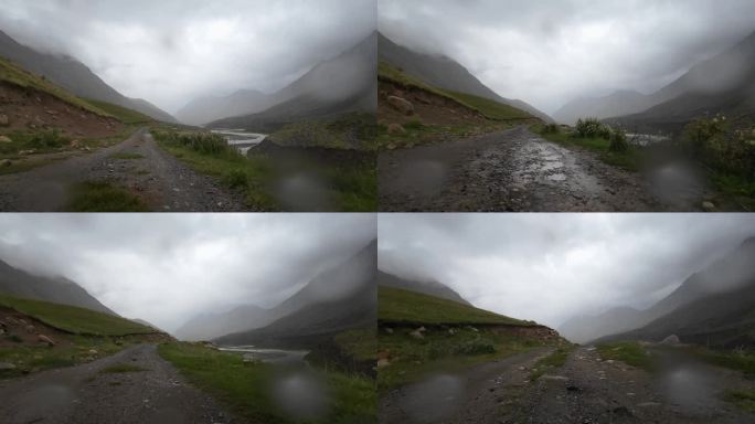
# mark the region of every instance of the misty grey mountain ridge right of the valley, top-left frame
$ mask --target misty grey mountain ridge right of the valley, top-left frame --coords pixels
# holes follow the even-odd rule
[[[198,99],[182,108],[179,117],[212,128],[264,131],[300,119],[374,113],[376,49],[372,33],[276,93],[240,91],[226,97]]]

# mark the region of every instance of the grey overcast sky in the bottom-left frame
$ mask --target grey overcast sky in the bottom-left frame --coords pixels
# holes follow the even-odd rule
[[[0,259],[172,331],[202,312],[277,305],[374,240],[374,216],[3,213]]]

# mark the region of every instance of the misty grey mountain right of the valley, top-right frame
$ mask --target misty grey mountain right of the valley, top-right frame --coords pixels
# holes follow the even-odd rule
[[[698,116],[717,113],[755,114],[755,32],[652,94],[617,92],[575,100],[555,117],[571,124],[575,117],[596,116],[632,130],[676,131]]]

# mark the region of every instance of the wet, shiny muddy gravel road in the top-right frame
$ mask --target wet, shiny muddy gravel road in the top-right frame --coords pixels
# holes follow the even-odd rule
[[[381,153],[379,176],[381,211],[666,209],[640,174],[544,140],[524,126]]]

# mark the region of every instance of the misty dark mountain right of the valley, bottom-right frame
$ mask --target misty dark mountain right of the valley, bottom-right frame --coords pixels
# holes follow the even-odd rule
[[[692,274],[669,296],[648,309],[612,309],[597,317],[572,319],[559,330],[564,337],[576,342],[592,341],[603,337],[623,338],[629,335],[662,339],[671,333],[681,337],[682,333],[702,331],[703,328],[699,327],[700,322],[696,319],[725,318],[721,315],[725,310],[716,311],[714,308],[705,310],[708,303],[720,304],[721,299],[725,299],[724,301],[730,301],[732,310],[755,309],[755,301],[749,296],[751,286],[755,285],[753,257],[755,257],[755,237],[745,240],[733,252],[719,258],[705,269]],[[681,320],[680,317],[688,319]],[[692,317],[696,318],[689,319]],[[745,319],[743,315],[741,317]],[[736,328],[734,321],[725,319],[724,321],[732,328]]]

